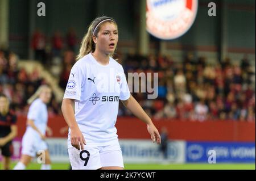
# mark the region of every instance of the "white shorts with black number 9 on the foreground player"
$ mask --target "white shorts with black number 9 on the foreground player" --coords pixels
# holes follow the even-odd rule
[[[84,145],[84,150],[68,149],[73,170],[96,170],[101,167],[124,167],[119,143],[108,146]]]

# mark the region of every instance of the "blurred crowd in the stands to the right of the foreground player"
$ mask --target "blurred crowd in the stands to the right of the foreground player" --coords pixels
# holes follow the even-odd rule
[[[133,93],[150,117],[255,121],[255,75],[246,56],[239,65],[229,58],[208,64],[205,57],[191,53],[180,61],[161,55],[127,56],[122,65],[126,73],[158,73],[157,99],[147,99],[150,92]],[[130,115],[120,108],[119,116]]]

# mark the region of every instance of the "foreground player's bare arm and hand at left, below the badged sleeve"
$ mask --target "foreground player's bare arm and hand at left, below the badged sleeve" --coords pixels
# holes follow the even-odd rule
[[[63,112],[63,116],[66,123],[68,124],[68,127],[71,129],[71,145],[78,150],[80,150],[81,146],[81,150],[84,150],[84,144],[86,144],[85,138],[82,135],[79,126],[77,125],[73,107],[73,99],[63,99],[61,111]]]

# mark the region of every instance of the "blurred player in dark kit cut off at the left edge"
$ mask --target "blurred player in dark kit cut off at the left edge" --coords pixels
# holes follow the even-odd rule
[[[3,156],[3,169],[10,169],[13,154],[12,140],[17,135],[16,116],[9,110],[8,98],[0,94],[0,150]]]

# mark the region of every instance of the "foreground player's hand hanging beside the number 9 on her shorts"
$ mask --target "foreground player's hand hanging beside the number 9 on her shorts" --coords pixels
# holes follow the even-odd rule
[[[84,145],[86,145],[85,138],[78,127],[71,128],[70,136],[71,145],[74,146],[77,150],[80,150],[80,148],[81,150],[84,150]]]

